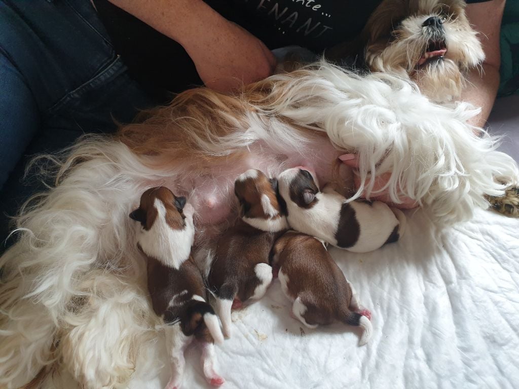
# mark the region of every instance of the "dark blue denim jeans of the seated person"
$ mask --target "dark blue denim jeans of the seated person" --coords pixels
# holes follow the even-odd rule
[[[30,155],[112,132],[155,105],[132,80],[89,0],[0,0],[0,239],[42,187],[22,182]],[[0,252],[2,247],[0,247]]]

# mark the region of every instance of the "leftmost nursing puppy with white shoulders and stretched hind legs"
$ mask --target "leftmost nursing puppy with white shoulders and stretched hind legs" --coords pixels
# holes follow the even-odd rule
[[[138,209],[130,214],[141,226],[138,246],[147,256],[148,290],[153,310],[166,324],[166,347],[171,362],[167,389],[179,388],[184,350],[196,339],[202,347],[206,380],[215,386],[224,380],[214,371],[214,342],[223,335],[211,305],[206,302],[203,277],[191,256],[195,235],[193,207],[165,187],[146,190]]]

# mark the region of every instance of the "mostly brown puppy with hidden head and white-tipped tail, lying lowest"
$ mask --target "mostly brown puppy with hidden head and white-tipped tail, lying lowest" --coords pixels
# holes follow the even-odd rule
[[[363,329],[360,344],[371,338],[371,312],[360,310],[357,296],[324,244],[316,238],[288,231],[276,241],[272,265],[291,299],[292,314],[309,328],[339,321]]]

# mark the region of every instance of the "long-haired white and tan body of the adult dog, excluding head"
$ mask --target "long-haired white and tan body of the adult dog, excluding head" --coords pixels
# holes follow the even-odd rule
[[[159,346],[128,218],[144,190],[190,197],[204,253],[238,174],[305,165],[325,183],[347,176],[332,173],[337,156],[355,152],[361,186],[351,199],[376,194],[375,176],[391,173],[394,202],[405,195],[454,223],[487,207],[484,195],[502,195],[494,177],[517,179],[495,138],[474,135],[476,114],[431,103],[406,77],[319,63],[233,96],[190,90],[117,136],[83,138],[57,162],[56,187],[22,210],[19,241],[0,260],[0,385],[122,386]]]

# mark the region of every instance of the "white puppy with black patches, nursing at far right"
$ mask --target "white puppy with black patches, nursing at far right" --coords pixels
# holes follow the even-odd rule
[[[312,174],[293,168],[278,177],[290,226],[355,253],[373,251],[396,242],[405,227],[402,211],[380,201],[346,202],[331,187],[321,192]]]

